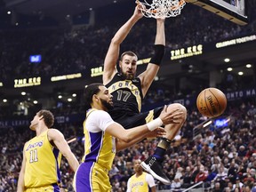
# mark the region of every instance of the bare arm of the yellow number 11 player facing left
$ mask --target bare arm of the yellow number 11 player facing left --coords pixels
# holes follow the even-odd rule
[[[65,140],[64,135],[59,130],[49,129],[48,139],[54,142],[55,146],[60,150],[60,153],[67,158],[68,164],[71,166],[72,170],[76,172],[79,163],[76,156],[69,148],[68,142]]]

